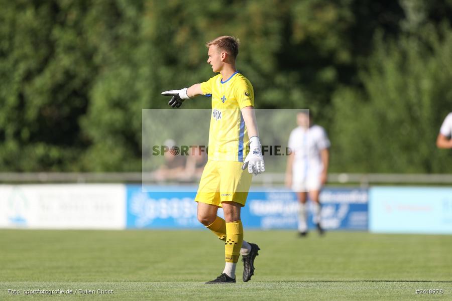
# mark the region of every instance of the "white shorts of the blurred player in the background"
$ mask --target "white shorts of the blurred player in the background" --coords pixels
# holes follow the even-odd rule
[[[295,167],[292,175],[292,190],[295,192],[309,192],[320,190],[322,168],[320,166],[304,169],[303,167]]]

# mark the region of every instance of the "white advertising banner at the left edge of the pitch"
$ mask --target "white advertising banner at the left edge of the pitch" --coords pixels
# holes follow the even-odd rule
[[[122,184],[0,185],[0,228],[124,229]]]

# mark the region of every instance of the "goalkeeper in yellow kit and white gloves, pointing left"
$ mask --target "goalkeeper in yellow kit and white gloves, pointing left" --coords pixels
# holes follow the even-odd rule
[[[254,112],[254,90],[250,81],[236,69],[237,39],[218,37],[207,42],[206,47],[207,63],[219,74],[189,88],[162,94],[172,96],[169,101],[172,107],[180,107],[184,100],[197,95],[212,96],[208,161],[195,201],[199,222],[224,241],[226,263],[223,272],[206,283],[236,282],[235,270],[240,255],[244,263],[243,281],[246,282],[254,273],[254,259],[260,249],[243,240],[240,210],[245,206],[252,174],[265,171]],[[218,207],[223,208],[224,219],[216,215]]]

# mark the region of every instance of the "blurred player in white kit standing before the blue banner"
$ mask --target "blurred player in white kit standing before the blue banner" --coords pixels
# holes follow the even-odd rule
[[[319,234],[323,234],[319,194],[327,179],[330,142],[323,127],[311,122],[309,111],[297,113],[297,124],[289,137],[291,154],[287,160],[286,186],[292,188],[298,197],[299,235],[306,236],[308,232],[307,193],[313,202],[314,223]]]

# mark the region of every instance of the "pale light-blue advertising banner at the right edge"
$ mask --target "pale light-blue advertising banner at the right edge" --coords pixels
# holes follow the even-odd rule
[[[371,188],[369,229],[380,233],[452,234],[452,188]]]

